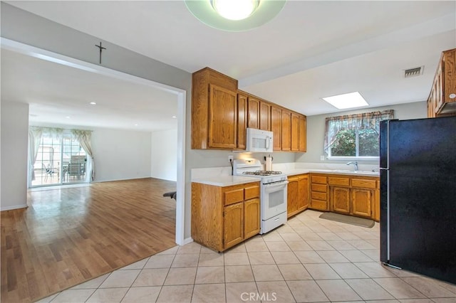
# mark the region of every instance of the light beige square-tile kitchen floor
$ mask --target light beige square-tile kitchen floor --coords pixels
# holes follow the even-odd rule
[[[378,223],[320,214],[304,211],[224,253],[176,246],[39,302],[456,303],[456,285],[380,265]]]

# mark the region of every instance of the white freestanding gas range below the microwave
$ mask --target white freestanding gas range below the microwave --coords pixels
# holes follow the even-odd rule
[[[260,178],[261,234],[286,223],[286,175],[281,171],[264,171],[258,159],[234,160],[233,174]]]

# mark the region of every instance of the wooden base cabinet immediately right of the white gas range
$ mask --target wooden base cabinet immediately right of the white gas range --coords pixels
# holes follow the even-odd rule
[[[309,174],[289,176],[287,218],[305,211],[309,206]]]

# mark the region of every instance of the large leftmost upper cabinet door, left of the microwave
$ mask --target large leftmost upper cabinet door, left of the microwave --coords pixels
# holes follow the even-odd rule
[[[235,149],[237,147],[237,94],[231,90],[209,85],[208,147]]]

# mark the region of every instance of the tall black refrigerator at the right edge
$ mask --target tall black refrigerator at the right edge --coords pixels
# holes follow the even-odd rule
[[[456,117],[380,122],[380,261],[456,284]]]

